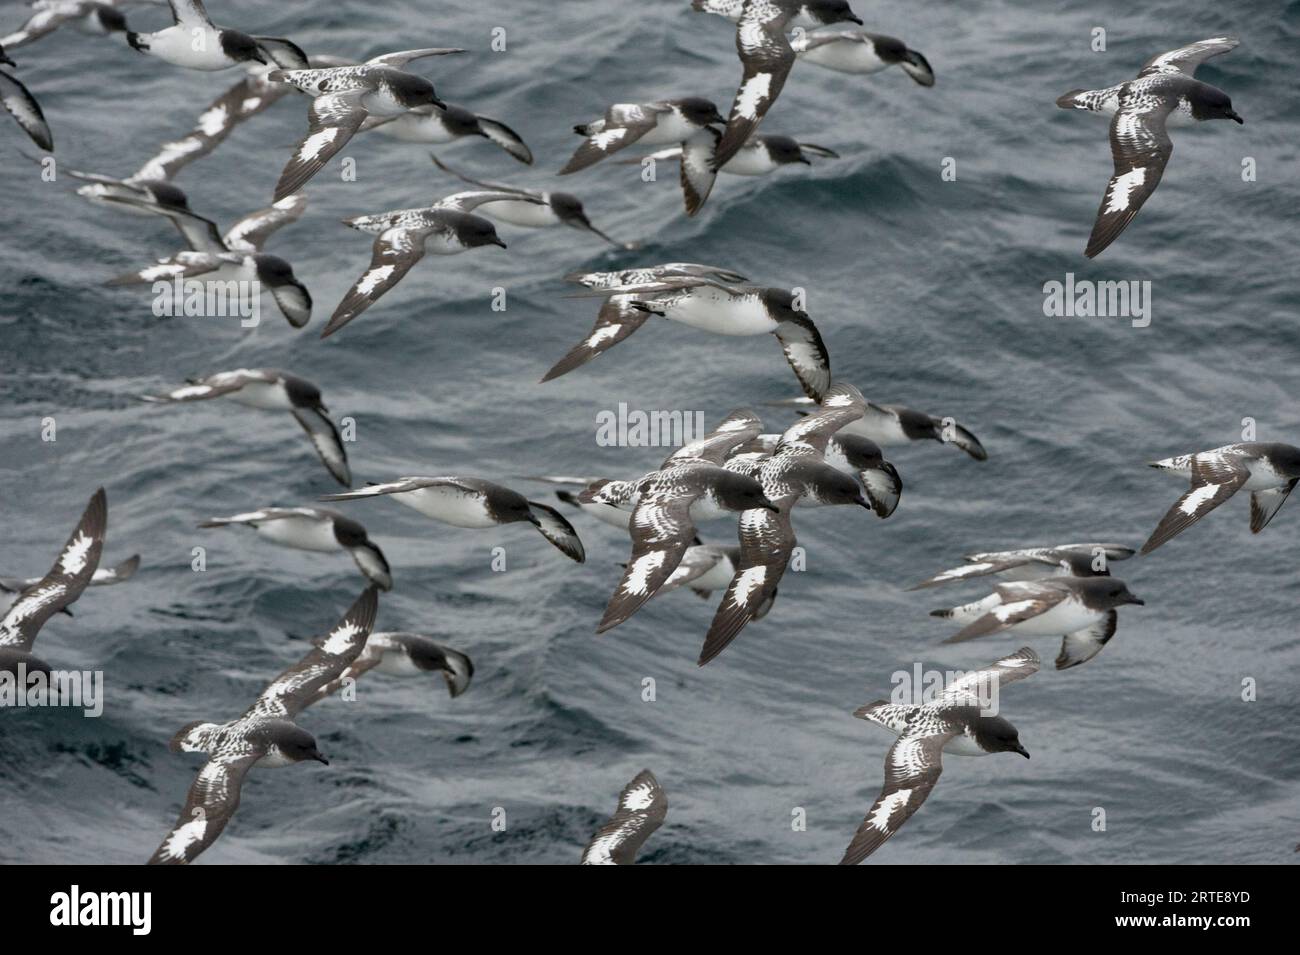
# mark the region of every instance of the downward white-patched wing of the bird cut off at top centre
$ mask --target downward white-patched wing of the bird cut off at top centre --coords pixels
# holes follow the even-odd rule
[[[772,0],[749,0],[745,4],[736,27],[736,51],[744,74],[727,117],[727,129],[714,152],[714,169],[727,165],[749,142],[785,86],[796,58],[785,39],[788,19],[785,9]]]

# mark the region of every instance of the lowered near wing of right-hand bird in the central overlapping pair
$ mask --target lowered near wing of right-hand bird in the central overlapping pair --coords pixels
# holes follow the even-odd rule
[[[705,646],[699,651],[701,667],[723,652],[776,596],[794,544],[789,507],[783,507],[779,513],[766,508],[741,511],[740,563],[705,635]]]

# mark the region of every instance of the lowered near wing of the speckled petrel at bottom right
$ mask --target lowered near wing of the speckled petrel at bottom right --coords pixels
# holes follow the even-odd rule
[[[944,746],[958,728],[939,719],[916,720],[885,754],[885,785],[858,826],[841,865],[857,865],[897,833],[920,808],[944,770]]]

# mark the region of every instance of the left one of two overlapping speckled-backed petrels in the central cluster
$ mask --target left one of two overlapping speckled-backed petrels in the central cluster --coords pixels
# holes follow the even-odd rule
[[[677,448],[658,470],[637,481],[593,485],[578,495],[582,503],[633,505],[628,524],[632,556],[597,633],[625,621],[668,582],[696,542],[697,520],[780,509],[758,479],[722,466],[727,455],[753,439],[760,427],[751,413],[732,412],[708,438]]]

